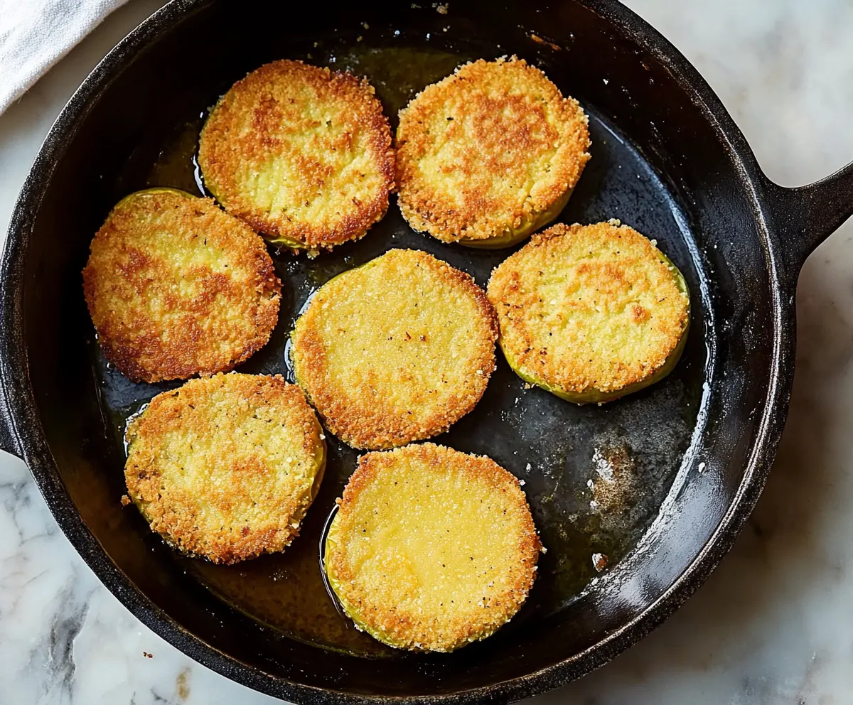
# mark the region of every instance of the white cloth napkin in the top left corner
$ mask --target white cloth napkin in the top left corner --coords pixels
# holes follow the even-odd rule
[[[0,113],[127,0],[0,0]]]

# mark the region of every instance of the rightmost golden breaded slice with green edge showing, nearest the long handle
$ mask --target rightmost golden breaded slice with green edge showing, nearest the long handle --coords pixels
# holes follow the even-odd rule
[[[606,402],[663,379],[687,339],[681,272],[616,220],[534,235],[495,269],[488,293],[510,367],[570,402]]]

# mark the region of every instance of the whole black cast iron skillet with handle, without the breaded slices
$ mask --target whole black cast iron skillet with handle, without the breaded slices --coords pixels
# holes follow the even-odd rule
[[[0,445],[26,460],[68,538],[136,616],[206,666],[296,702],[516,700],[600,666],[676,610],[761,492],[791,391],[798,271],[853,212],[853,166],[803,188],[769,182],[693,66],[618,3],[421,5],[174,0],[73,95],[3,251]],[[593,159],[561,220],[618,217],[656,237],[691,289],[690,344],[670,378],[603,407],[526,390],[500,363],[478,409],[439,441],[524,477],[551,550],[529,604],[496,636],[448,656],[389,654],[342,627],[318,582],[319,528],[354,462],[339,444],[283,558],[213,569],[119,505],[121,428],[168,385],[131,384],[104,363],[79,272],[120,196],[195,188],[202,113],[264,61],[352,66],[392,114],[461,59],[513,53],[590,113]],[[435,252],[480,284],[508,254],[413,234],[393,204],[361,244],[314,261],[274,253],[280,326],[243,369],[287,373],[286,333],[310,291],[389,246]],[[614,466],[621,494],[592,494],[586,481],[601,488]]]

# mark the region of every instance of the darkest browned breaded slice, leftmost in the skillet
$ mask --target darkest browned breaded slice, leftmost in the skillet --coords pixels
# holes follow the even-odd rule
[[[149,188],[96,233],[83,288],[107,360],[158,382],[231,370],[263,347],[281,282],[246,223],[211,199]]]

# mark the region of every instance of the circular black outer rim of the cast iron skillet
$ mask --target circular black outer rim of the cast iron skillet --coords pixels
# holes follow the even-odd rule
[[[325,702],[359,705],[402,701],[453,705],[484,700],[510,702],[566,685],[609,662],[672,615],[717,567],[717,563],[740,534],[740,529],[761,494],[785,424],[793,381],[795,326],[792,293],[796,284],[796,273],[792,276],[788,271],[780,251],[779,239],[769,226],[770,199],[766,194],[769,180],[758,167],[746,138],[705,79],[672,43],[645,20],[615,0],[577,0],[587,9],[599,14],[617,32],[629,36],[652,54],[670,71],[682,90],[691,94],[692,100],[700,107],[722,142],[729,147],[741,183],[751,201],[759,236],[763,240],[773,309],[773,350],[769,367],[771,383],[737,492],[711,538],[693,558],[688,568],[658,600],[633,620],[609,634],[606,639],[564,661],[515,679],[466,691],[427,696],[371,696],[299,684],[241,663],[194,636],[149,600],[107,556],[80,517],[62,483],[44,436],[32,384],[29,384],[24,345],[21,311],[26,250],[36,214],[53,175],[54,165],[61,159],[67,143],[77,131],[77,124],[113,84],[118,72],[149,43],[154,42],[161,31],[213,2],[215,0],[171,0],[148,19],[143,20],[111,49],[63,107],[26,176],[9,222],[9,232],[0,260],[0,330],[6,332],[0,337],[0,422],[9,425],[11,441],[17,446],[10,450],[17,452],[26,461],[51,513],[74,549],[102,584],[119,598],[133,615],[194,661],[269,695],[312,705]],[[15,384],[15,380],[26,382],[19,385]],[[23,433],[21,429],[29,431]]]

